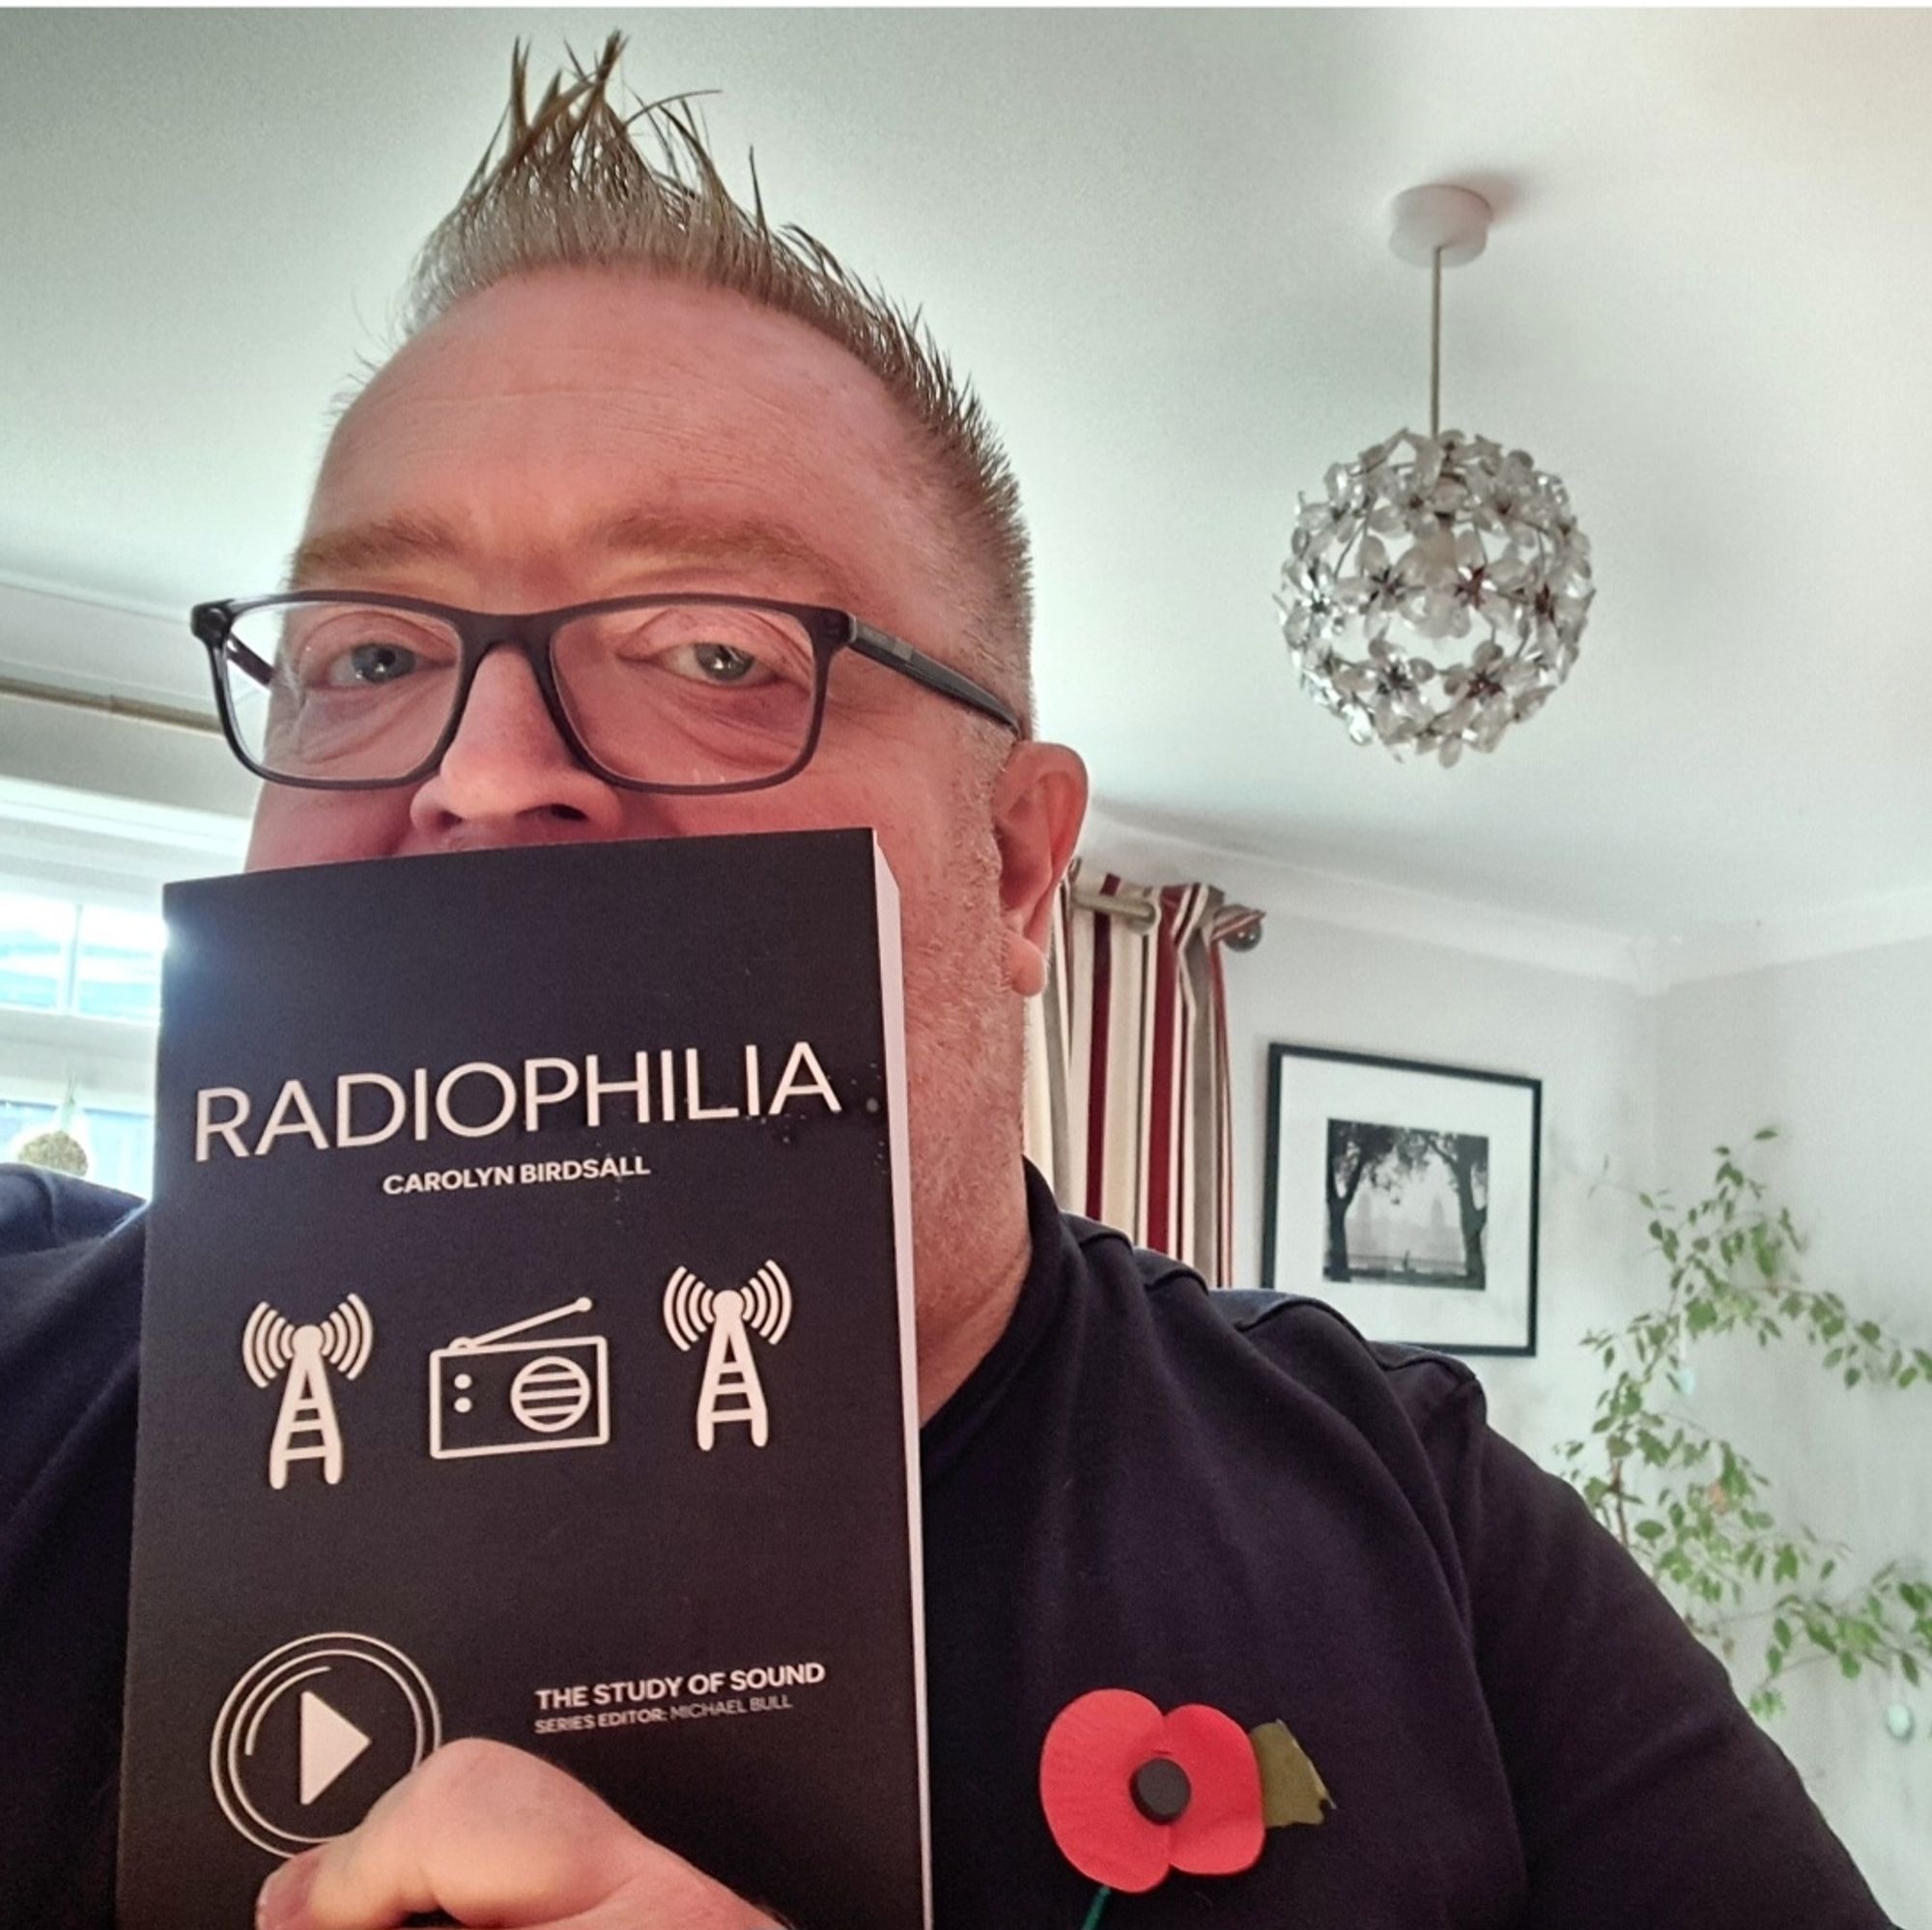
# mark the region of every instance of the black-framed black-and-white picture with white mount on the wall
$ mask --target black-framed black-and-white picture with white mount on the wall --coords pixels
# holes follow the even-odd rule
[[[1267,1049],[1262,1285],[1372,1341],[1536,1352],[1542,1080]]]

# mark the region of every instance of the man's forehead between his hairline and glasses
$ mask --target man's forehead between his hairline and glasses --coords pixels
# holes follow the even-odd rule
[[[452,568],[570,601],[622,535],[626,568],[653,543],[667,568],[736,556],[893,622],[945,599],[945,531],[918,425],[837,342],[721,290],[547,270],[464,298],[371,381],[296,574],[421,574],[454,543]]]

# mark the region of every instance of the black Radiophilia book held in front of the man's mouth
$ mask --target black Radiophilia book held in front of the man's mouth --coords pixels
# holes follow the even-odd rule
[[[124,1930],[495,1737],[929,1922],[896,893],[869,831],[166,893]]]

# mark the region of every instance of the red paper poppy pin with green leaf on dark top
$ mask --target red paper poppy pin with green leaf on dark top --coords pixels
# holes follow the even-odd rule
[[[1053,1717],[1039,1801],[1061,1855],[1101,1886],[1092,1930],[1115,1889],[1252,1868],[1264,1831],[1320,1824],[1335,1799],[1279,1721],[1242,1729],[1204,1702],[1163,1716],[1130,1689],[1095,1689]]]

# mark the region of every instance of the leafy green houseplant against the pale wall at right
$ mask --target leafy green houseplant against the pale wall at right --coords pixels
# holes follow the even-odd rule
[[[1774,1128],[1756,1134],[1770,1138]],[[1847,1679],[1872,1669],[1918,1689],[1932,1675],[1922,1561],[1899,1555],[1851,1580],[1851,1549],[1785,1526],[1756,1466],[1683,1401],[1694,1387],[1692,1345],[1725,1333],[1754,1335],[1758,1347],[1803,1341],[1845,1389],[1932,1387],[1932,1350],[1857,1320],[1835,1292],[1804,1287],[1789,1209],[1766,1198],[1729,1148],[1718,1148],[1700,1200],[1638,1198],[1667,1291],[1625,1325],[1584,1335],[1605,1385],[1588,1439],[1557,1449],[1563,1476],[1725,1661],[1762,1642],[1760,1675],[1745,1690],[1760,1719],[1783,1710],[1779,1685],[1808,1665]],[[1886,1719],[1901,1741],[1917,1727],[1903,1702]]]

